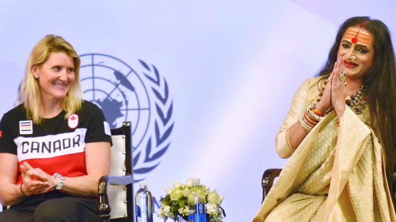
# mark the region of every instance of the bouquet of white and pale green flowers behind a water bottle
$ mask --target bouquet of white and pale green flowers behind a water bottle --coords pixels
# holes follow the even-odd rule
[[[166,196],[161,199],[161,207],[157,212],[158,217],[164,219],[164,221],[168,219],[176,221],[179,217],[188,221],[189,208],[187,197],[192,186],[192,178],[187,180],[187,184],[177,181],[173,182],[173,188],[168,187],[166,189]],[[206,219],[210,219],[210,222],[222,222],[226,216],[223,208],[220,207],[224,197],[220,197],[216,190],[210,191],[209,187],[203,184],[201,186],[205,191]]]

